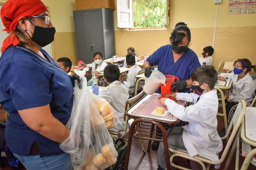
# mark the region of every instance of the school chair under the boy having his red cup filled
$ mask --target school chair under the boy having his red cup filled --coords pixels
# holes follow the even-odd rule
[[[229,133],[231,132],[231,129],[233,129],[230,136],[229,136],[229,141],[227,142],[227,144],[224,148],[224,151],[223,151],[223,153],[222,153],[222,155],[221,155],[221,157],[218,161],[208,160],[207,158],[204,158],[202,156],[190,157],[190,155],[185,150],[169,148],[169,150],[173,153],[171,155],[171,158],[170,158],[171,166],[173,166],[177,169],[180,169],[180,170],[190,170],[190,169],[187,169],[187,168],[182,167],[180,165],[176,165],[173,162],[175,157],[182,157],[182,158],[185,158],[187,160],[195,161],[195,162],[197,162],[198,164],[200,164],[202,166],[203,170],[209,170],[210,165],[219,165],[219,164],[223,163],[227,154],[228,154],[228,152],[229,152],[231,144],[237,138],[236,134],[237,134],[238,130],[240,129],[241,122],[243,121],[244,116],[245,116],[245,108],[246,108],[246,103],[245,103],[244,100],[242,100],[241,103],[240,103],[240,106],[238,106],[235,110],[235,113],[234,113],[234,116],[233,116],[233,121],[231,121],[231,123],[229,124],[229,128],[228,128],[225,136],[221,138],[222,140],[226,139],[229,136]],[[234,124],[234,126],[233,126],[233,124]],[[232,147],[232,149],[231,149],[231,152],[233,151],[233,153],[234,153],[235,148]],[[231,152],[229,154],[227,162],[232,159],[233,153],[231,153]],[[205,167],[204,163],[207,164],[207,167]],[[228,169],[228,165],[226,163],[225,167],[224,167],[224,170],[227,170],[227,169]]]

